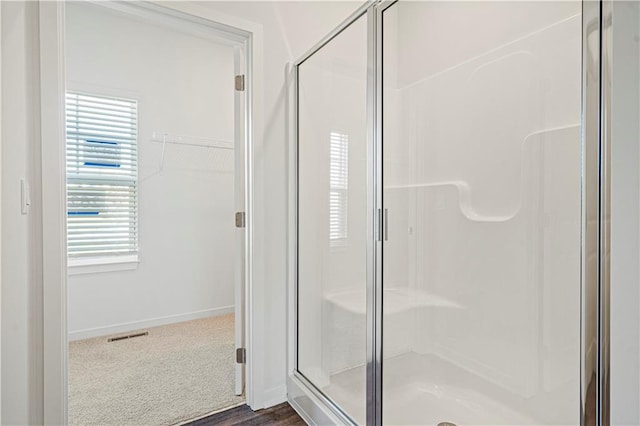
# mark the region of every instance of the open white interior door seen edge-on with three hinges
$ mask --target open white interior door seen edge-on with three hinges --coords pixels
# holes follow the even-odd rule
[[[245,72],[244,49],[235,49],[235,75],[243,76]],[[235,237],[235,345],[236,351],[243,350],[245,346],[245,253],[246,253],[246,201],[245,201],[245,91],[244,80],[241,88],[238,82],[235,90],[234,117],[235,117],[235,167],[234,167],[234,194],[236,206],[236,237]],[[238,214],[241,215],[238,218]],[[237,352],[236,352],[237,353]],[[235,394],[244,392],[245,364],[236,359]]]

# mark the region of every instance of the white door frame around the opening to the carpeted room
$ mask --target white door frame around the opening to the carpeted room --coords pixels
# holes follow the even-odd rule
[[[90,1],[90,0],[89,0]],[[262,26],[228,16],[192,3],[96,2],[101,6],[140,16],[170,17],[186,24],[204,26],[221,38],[241,44],[245,67],[245,96],[241,126],[244,134],[244,337],[246,355],[245,399],[253,409],[263,408],[262,386],[265,343],[264,306],[254,293],[254,151],[255,135],[262,127]],[[44,424],[68,423],[68,327],[67,327],[67,230],[65,168],[65,4],[64,1],[39,2],[40,30],[40,127],[41,155],[36,168],[42,189],[42,278],[43,278],[43,414]],[[229,84],[233,84],[232,81]],[[236,119],[237,114],[236,115]],[[38,175],[38,174],[36,174]],[[35,206],[37,209],[37,206]],[[231,220],[231,218],[230,218]],[[259,278],[258,278],[259,279]]]

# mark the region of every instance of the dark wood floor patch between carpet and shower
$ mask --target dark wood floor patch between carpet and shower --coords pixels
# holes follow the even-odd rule
[[[232,425],[282,425],[303,426],[304,420],[286,402],[275,407],[252,411],[248,405],[241,405],[221,413],[212,414],[185,426],[232,426]]]

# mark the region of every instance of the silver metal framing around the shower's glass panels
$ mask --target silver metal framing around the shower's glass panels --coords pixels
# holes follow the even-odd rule
[[[288,363],[287,390],[290,404],[311,424],[352,424],[344,413],[298,371],[297,364],[297,239],[298,239],[298,66],[320,50],[343,29],[367,15],[367,424],[382,425],[382,233],[381,117],[382,12],[402,0],[370,0],[319,41],[297,61],[289,64],[287,119],[289,138],[289,267],[288,267]],[[613,0],[582,0],[581,83],[581,300],[580,423],[609,425],[610,371],[610,229],[611,229],[611,76]]]

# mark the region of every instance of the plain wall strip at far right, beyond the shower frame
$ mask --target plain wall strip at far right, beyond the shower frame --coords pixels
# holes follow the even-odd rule
[[[640,4],[613,3],[611,424],[640,423]]]

